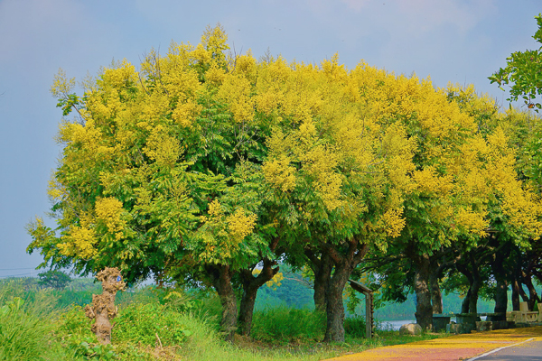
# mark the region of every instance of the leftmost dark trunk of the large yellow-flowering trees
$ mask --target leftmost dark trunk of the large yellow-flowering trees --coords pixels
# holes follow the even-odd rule
[[[226,340],[233,342],[238,320],[237,299],[231,285],[233,273],[229,265],[219,264],[211,268],[210,276],[222,304],[220,328],[225,333]]]

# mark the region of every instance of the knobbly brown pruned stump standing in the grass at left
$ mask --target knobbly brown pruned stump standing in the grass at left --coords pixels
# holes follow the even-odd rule
[[[117,291],[123,290],[126,283],[117,268],[106,268],[96,275],[98,281],[102,282],[102,294],[92,295],[92,304],[85,307],[85,315],[89,319],[95,319],[92,325],[92,332],[102,345],[111,343],[111,319],[117,317],[117,306],[115,296]]]

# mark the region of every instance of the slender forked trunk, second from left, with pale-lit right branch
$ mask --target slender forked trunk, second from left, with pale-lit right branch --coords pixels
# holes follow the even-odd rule
[[[241,271],[241,282],[243,284],[243,297],[241,298],[241,307],[239,310],[241,335],[250,335],[257,290],[276,275],[278,266],[273,268],[275,264],[276,262],[264,260],[264,267],[256,277],[252,274],[251,269]]]

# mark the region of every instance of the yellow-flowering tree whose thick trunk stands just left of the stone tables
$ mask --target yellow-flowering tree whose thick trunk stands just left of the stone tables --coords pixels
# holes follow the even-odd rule
[[[472,101],[473,89],[456,97],[456,88],[435,90],[429,79],[396,77],[367,66],[359,71],[366,116],[381,125],[402,125],[416,142],[412,187],[402,208],[404,227],[387,245],[390,259],[406,256],[412,262],[416,319],[427,328],[433,313],[430,283],[440,293],[435,272],[442,268],[436,261],[453,255],[459,245],[468,250],[487,238],[496,204],[506,212],[510,230],[532,234],[537,205],[518,180],[506,134],[479,122],[494,114],[491,101]],[[529,199],[528,214],[512,206],[516,199]],[[531,225],[528,230],[526,222]]]

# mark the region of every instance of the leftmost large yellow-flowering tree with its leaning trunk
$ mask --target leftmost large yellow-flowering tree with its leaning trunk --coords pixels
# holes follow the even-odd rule
[[[128,282],[207,282],[232,338],[233,277],[273,259],[276,241],[257,188],[273,119],[254,110],[257,61],[229,58],[226,40],[217,26],[197,46],[151,51],[139,69],[114,63],[82,81],[81,97],[59,72],[51,92],[75,119],[61,122],[49,190],[58,226],[37,218],[28,251],[79,273],[117,266]]]

